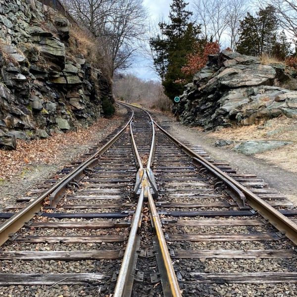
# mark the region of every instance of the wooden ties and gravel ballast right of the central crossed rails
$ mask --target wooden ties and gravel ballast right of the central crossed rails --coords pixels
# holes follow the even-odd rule
[[[263,180],[193,149],[285,215],[297,214]],[[248,203],[241,209],[228,189],[215,188],[217,179],[160,132],[153,171],[156,206],[183,296],[295,296],[296,246]]]

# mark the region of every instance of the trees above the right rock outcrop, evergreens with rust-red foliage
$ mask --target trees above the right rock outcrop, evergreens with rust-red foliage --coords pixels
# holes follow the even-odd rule
[[[169,20],[160,22],[150,39],[154,67],[170,99],[182,94],[207,55],[221,48],[296,64],[296,0],[264,0],[258,6],[245,0],[193,2],[191,11],[185,0],[173,0]]]

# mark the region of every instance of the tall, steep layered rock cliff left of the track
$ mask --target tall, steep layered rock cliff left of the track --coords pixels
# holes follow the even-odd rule
[[[37,0],[0,0],[0,148],[87,127],[113,100],[99,69],[69,45],[68,20]]]

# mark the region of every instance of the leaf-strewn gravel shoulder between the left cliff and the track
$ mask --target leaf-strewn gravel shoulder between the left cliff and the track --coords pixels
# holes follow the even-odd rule
[[[7,205],[43,183],[125,122],[121,107],[111,119],[100,118],[89,129],[19,143],[15,151],[0,151],[0,204]]]

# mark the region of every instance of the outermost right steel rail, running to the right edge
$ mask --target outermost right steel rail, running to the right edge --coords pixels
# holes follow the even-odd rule
[[[269,205],[266,201],[262,200],[257,195],[252,193],[245,186],[237,182],[228,174],[226,174],[225,172],[217,168],[211,162],[201,157],[194,150],[182,144],[179,140],[177,140],[175,137],[173,137],[171,134],[165,131],[154,120],[153,122],[160,131],[162,131],[178,147],[182,148],[182,150],[185,151],[188,155],[190,155],[193,158],[197,158],[198,160],[201,160],[202,162],[208,165],[209,167],[208,169],[211,170],[212,173],[219,173],[227,181],[235,185],[241,192],[243,192],[246,195],[247,201],[253,209],[257,210],[260,215],[262,215],[265,219],[267,219],[276,229],[278,229],[281,233],[286,235],[287,238],[289,238],[294,244],[297,245],[297,224],[296,223],[294,223],[292,220],[290,220],[285,215],[280,213],[274,207]]]

